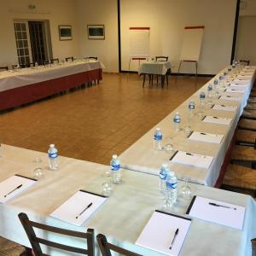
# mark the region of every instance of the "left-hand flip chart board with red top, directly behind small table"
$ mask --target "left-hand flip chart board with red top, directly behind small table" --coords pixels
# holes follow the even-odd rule
[[[130,27],[130,57],[149,56],[149,28]]]

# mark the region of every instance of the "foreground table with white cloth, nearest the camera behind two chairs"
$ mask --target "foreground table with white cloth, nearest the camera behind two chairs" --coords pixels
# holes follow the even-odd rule
[[[30,247],[17,215],[26,212],[34,221],[50,224],[63,229],[85,231],[93,228],[95,233],[102,233],[108,241],[143,255],[164,255],[153,250],[135,245],[145,224],[156,209],[162,206],[162,195],[159,191],[159,180],[154,175],[122,170],[123,181],[113,185],[113,193],[107,201],[82,224],[81,227],[68,224],[49,214],[64,201],[77,192],[85,189],[102,193],[102,183],[106,180],[104,173],[109,166],[102,166],[83,160],[74,160],[60,156],[60,169],[49,171],[47,154],[8,145],[2,147],[0,159],[0,182],[15,174],[33,177],[33,160],[39,157],[43,161],[44,177],[33,187],[15,199],[0,204],[0,236]],[[179,194],[183,185],[177,184],[177,203],[172,213],[185,216],[190,200]],[[242,230],[225,227],[220,224],[192,218],[183,247],[179,255],[251,255],[250,240],[256,237],[256,205],[249,195],[242,195],[221,189],[213,189],[198,184],[190,184],[193,195],[200,195],[211,200],[224,201],[237,206],[246,207]],[[156,230],[157,231],[157,230]],[[84,241],[67,236],[44,234],[47,239],[71,242],[73,246],[84,246]],[[48,251],[50,255],[67,255]],[[101,255],[96,249],[96,255]]]

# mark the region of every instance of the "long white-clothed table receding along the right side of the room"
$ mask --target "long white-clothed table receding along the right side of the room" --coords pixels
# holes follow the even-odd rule
[[[232,93],[226,91],[219,91],[218,96],[207,98],[207,108],[203,108],[201,115],[195,114],[195,116],[188,122],[188,106],[190,99],[195,102],[195,113],[199,109],[199,95],[201,91],[205,91],[207,95],[207,87],[209,84],[213,84],[214,79],[218,78],[220,74],[223,74],[227,68],[218,73],[217,76],[212,78],[207,84],[205,84],[200,90],[196,91],[194,95],[184,101],[178,108],[172,113],[162,119],[159,124],[155,125],[150,131],[148,131],[143,137],[141,137],[136,143],[127,148],[125,152],[119,155],[121,165],[132,171],[147,172],[154,175],[159,175],[160,166],[167,163],[171,170],[176,173],[178,179],[188,177],[190,182],[205,184],[208,186],[218,186],[218,177],[224,164],[225,154],[229,152],[230,143],[232,137],[236,131],[237,122],[241,116],[242,110],[247,103],[249,93],[252,89],[255,79],[255,68],[251,69],[250,77],[247,79],[247,89],[244,93]],[[236,81],[237,74],[231,75],[230,78]],[[231,82],[232,84],[232,82]],[[234,96],[238,97],[238,101],[221,100],[220,96]],[[228,98],[229,99],[229,98]],[[222,111],[212,109],[213,104],[220,104],[223,106],[235,106],[236,111]],[[181,115],[181,126],[190,125],[192,131],[199,131],[202,133],[212,133],[224,135],[221,143],[206,143],[195,140],[190,140],[184,131],[174,132],[173,130],[173,117],[176,112]],[[207,123],[202,121],[203,116],[223,117],[230,118],[230,125],[219,125],[213,123]],[[209,155],[213,157],[212,164],[208,169],[199,168],[195,166],[176,164],[170,161],[173,151],[154,150],[154,131],[156,127],[159,127],[163,133],[163,146],[166,144],[172,144],[175,150],[181,150],[192,154]]]

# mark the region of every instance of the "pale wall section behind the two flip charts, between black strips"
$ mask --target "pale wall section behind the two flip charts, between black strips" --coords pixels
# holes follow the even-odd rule
[[[184,26],[205,26],[199,73],[214,74],[230,64],[236,0],[120,0],[122,69],[128,70],[129,27],[150,26],[150,55],[168,55],[177,71]],[[133,69],[137,69],[134,63]],[[191,63],[181,72],[195,73]]]

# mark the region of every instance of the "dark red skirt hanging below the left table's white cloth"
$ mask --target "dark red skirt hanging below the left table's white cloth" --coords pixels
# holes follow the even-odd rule
[[[34,102],[47,96],[55,95],[79,84],[94,80],[102,80],[102,69],[94,69],[84,73],[75,73],[66,77],[29,84],[0,92],[0,110],[15,108],[28,102]]]

